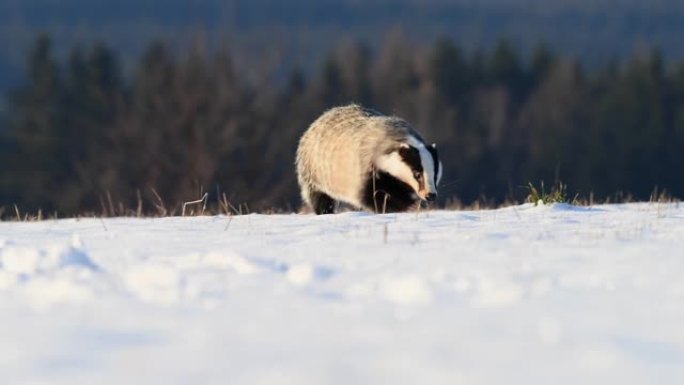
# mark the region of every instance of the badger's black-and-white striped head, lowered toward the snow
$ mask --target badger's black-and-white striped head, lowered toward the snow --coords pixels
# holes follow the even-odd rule
[[[434,144],[426,145],[422,140],[409,136],[380,156],[376,167],[411,186],[417,198],[428,202],[437,199],[442,163]]]

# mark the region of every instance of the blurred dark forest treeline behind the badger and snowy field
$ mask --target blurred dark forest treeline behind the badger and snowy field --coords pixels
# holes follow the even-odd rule
[[[544,45],[525,56],[502,39],[473,52],[395,31],[377,50],[342,43],[314,73],[278,82],[277,61],[246,76],[240,52],[201,42],[181,54],[150,44],[132,73],[105,43],[64,60],[52,45],[36,39],[0,116],[5,217],[15,205],[180,214],[205,193],[226,207],[295,211],[297,141],[348,103],[405,118],[437,143],[440,205],[520,202],[542,181],[596,200],[684,196],[684,62],[666,66],[654,49],[586,70]]]

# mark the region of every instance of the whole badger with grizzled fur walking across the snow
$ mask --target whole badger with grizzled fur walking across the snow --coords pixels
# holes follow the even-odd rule
[[[442,164],[434,144],[404,119],[351,104],[332,108],[302,135],[296,155],[303,201],[316,214],[339,203],[385,213],[437,198]]]

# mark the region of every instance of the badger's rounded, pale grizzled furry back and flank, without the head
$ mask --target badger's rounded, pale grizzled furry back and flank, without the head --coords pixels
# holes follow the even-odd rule
[[[401,119],[358,105],[328,110],[309,126],[299,142],[299,185],[361,207],[359,194],[373,159],[411,131]]]

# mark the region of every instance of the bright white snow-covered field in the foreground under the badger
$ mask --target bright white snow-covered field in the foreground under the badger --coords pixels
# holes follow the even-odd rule
[[[0,223],[2,384],[684,384],[684,205]]]

